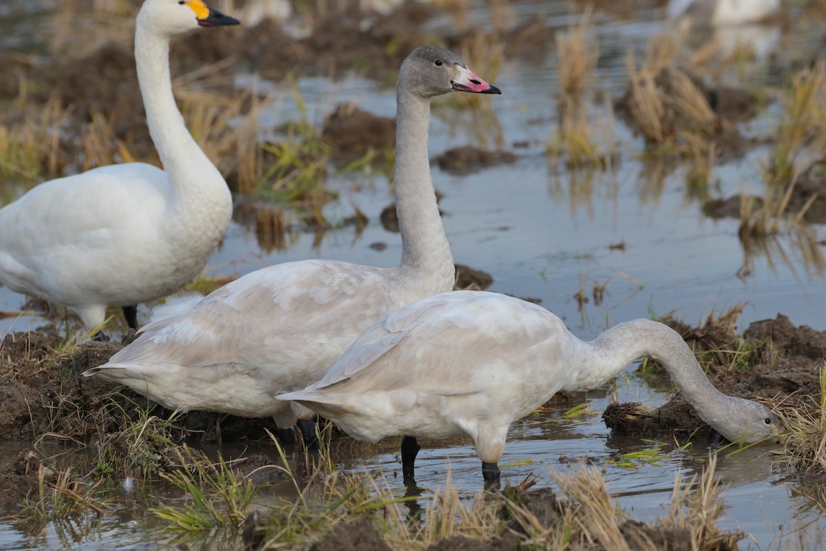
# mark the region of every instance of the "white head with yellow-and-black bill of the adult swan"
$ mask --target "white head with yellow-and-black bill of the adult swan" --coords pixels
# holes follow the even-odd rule
[[[180,35],[198,26],[238,25],[235,17],[208,7],[202,0],[146,0],[138,13],[138,25],[166,36]]]

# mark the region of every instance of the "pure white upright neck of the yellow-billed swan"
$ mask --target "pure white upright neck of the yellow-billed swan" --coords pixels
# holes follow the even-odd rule
[[[229,189],[221,173],[184,126],[173,97],[169,37],[159,36],[150,25],[141,24],[140,15],[135,29],[138,83],[150,135],[164,164],[172,193],[169,202],[172,212],[168,212],[164,219],[188,226],[195,226],[197,219],[204,218],[209,221],[225,218],[228,223],[231,216]],[[182,211],[185,214],[182,215]],[[225,229],[224,225],[221,234]],[[208,232],[210,228],[204,230]]]

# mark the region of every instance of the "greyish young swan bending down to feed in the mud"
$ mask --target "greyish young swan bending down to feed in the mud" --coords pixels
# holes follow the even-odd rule
[[[416,436],[468,435],[486,484],[496,485],[510,423],[559,391],[600,386],[643,356],[661,362],[700,417],[727,439],[755,442],[781,429],[766,406],[714,388],[667,325],[628,321],[583,342],[541,306],[493,292],[444,292],[398,308],[371,325],[319,382],[278,397],[334,420],[355,439],[405,435],[408,483]]]

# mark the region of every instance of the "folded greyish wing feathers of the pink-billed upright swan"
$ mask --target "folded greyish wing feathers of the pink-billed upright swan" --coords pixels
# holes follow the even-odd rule
[[[207,297],[173,302],[137,340],[87,373],[106,376],[107,368],[133,366],[140,377],[150,378],[153,369],[225,365],[237,370],[278,366],[289,373],[293,364],[307,361],[301,354],[318,354],[324,363],[327,346],[340,350],[352,342],[377,315],[371,312],[393,296],[379,272],[327,261],[259,269]],[[330,342],[338,339],[347,343]],[[307,347],[308,341],[316,348]]]

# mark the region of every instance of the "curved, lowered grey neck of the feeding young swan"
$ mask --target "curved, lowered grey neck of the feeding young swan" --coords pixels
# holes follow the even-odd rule
[[[676,331],[656,321],[634,320],[615,325],[595,340],[583,343],[579,387],[594,388],[636,359],[662,363],[700,417],[724,436],[729,415],[741,400],[719,392],[705,376],[691,349]],[[735,436],[734,439],[737,437]]]

